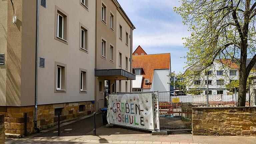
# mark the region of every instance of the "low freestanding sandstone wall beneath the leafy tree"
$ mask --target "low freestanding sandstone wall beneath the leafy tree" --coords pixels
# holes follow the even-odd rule
[[[256,107],[193,108],[193,135],[256,136]]]

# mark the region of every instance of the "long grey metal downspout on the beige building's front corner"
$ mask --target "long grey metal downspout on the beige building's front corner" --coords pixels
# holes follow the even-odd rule
[[[37,79],[38,79],[38,25],[39,25],[39,0],[36,2],[36,63],[35,63],[35,120],[34,128],[39,133],[37,128]]]

